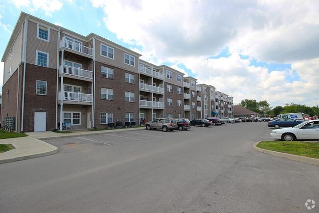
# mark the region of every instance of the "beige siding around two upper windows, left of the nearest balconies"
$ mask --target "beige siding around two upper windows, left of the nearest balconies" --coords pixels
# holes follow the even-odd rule
[[[27,63],[36,64],[36,51],[41,51],[44,53],[49,53],[49,68],[56,69],[57,31],[50,28],[50,42],[47,42],[37,38],[37,27],[37,23],[32,21],[28,22],[26,56]]]

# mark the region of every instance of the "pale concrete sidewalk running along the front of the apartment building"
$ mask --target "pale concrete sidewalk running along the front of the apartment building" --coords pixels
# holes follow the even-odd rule
[[[128,129],[112,129],[112,130],[101,130],[101,131],[75,131],[73,133],[53,133],[47,132],[32,132],[26,133],[27,137],[16,137],[1,139],[0,144],[11,144],[15,149],[0,153],[0,163],[12,162],[17,160],[26,160],[32,158],[38,158],[43,156],[52,155],[57,153],[57,147],[43,142],[41,140],[53,139],[53,138],[64,138],[64,137],[75,137],[75,136],[88,136],[95,134],[107,134],[117,132],[127,132],[134,130],[145,129],[145,127],[128,128]]]

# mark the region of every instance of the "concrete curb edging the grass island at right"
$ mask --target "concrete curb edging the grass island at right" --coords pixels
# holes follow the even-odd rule
[[[257,145],[260,142],[262,142],[262,141],[259,141],[253,145],[253,147],[252,147],[253,150],[258,151],[258,152],[262,152],[262,153],[266,153],[268,155],[280,157],[280,158],[285,158],[285,159],[289,159],[289,160],[294,160],[294,161],[299,161],[299,162],[309,163],[309,164],[319,166],[319,159],[308,158],[308,157],[304,157],[304,156],[298,156],[298,155],[292,155],[292,154],[287,154],[287,153],[282,153],[282,152],[261,149],[261,148],[257,147]]]

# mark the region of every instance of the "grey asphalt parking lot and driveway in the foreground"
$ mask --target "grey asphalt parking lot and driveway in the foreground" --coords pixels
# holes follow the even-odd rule
[[[266,122],[46,140],[0,165],[0,212],[306,212],[319,167],[254,151]]]

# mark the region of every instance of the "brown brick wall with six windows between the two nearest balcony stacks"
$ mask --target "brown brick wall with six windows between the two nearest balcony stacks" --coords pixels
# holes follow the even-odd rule
[[[101,77],[101,66],[105,66],[114,70],[113,79]],[[134,75],[134,84],[125,82],[125,73]],[[95,78],[95,114],[94,127],[107,128],[107,124],[101,124],[101,112],[112,112],[113,121],[121,121],[124,125],[125,113],[134,113],[134,120],[138,124],[138,74],[126,71],[121,68],[110,66],[104,63],[96,62],[96,78]],[[101,99],[101,88],[113,89],[113,100]],[[125,101],[125,91],[134,93],[134,102]],[[121,109],[119,109],[121,107]]]

